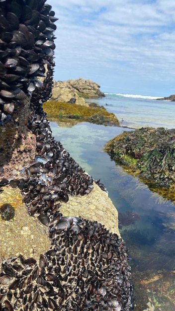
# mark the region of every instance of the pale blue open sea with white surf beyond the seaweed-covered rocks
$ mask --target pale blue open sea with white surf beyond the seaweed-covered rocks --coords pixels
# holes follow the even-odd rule
[[[158,98],[160,97],[105,93],[105,97],[93,102],[113,112],[121,126],[134,129],[147,126],[174,128],[175,102]]]

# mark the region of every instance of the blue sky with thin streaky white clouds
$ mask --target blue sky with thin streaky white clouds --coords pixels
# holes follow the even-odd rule
[[[54,79],[103,92],[175,94],[175,0],[47,0],[59,18]]]

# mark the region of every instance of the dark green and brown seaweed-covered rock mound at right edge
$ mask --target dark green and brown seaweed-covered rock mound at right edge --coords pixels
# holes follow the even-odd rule
[[[175,184],[175,129],[141,128],[110,140],[105,151],[143,181],[159,187]]]

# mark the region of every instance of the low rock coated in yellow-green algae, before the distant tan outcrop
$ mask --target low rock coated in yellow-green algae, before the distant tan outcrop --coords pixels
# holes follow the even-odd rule
[[[89,105],[87,107],[83,105],[48,100],[43,104],[43,109],[49,116],[79,119],[80,121],[96,124],[120,125],[115,114],[107,112],[107,110],[101,106],[94,107]]]

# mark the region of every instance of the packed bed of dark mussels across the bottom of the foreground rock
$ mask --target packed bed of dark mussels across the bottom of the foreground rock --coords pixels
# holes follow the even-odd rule
[[[97,222],[62,217],[56,209],[48,222],[51,247],[39,264],[22,256],[2,263],[0,310],[131,310],[123,240]]]

